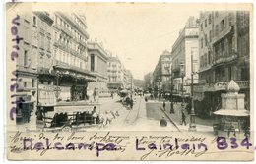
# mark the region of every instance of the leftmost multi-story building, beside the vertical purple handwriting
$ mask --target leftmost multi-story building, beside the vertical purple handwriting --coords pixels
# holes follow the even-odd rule
[[[18,30],[23,39],[19,44],[16,64],[19,85],[17,94],[25,102],[22,108],[17,109],[17,117],[23,116],[20,115],[21,112],[35,111],[37,103],[55,103],[53,83],[50,80],[53,76],[49,75],[53,64],[51,33],[53,20],[47,12],[23,12],[19,17]],[[20,122],[25,117],[17,118],[17,121]]]

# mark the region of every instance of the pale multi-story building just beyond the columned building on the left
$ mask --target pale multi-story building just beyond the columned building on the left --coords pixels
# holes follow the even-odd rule
[[[109,90],[124,88],[124,70],[124,66],[122,65],[118,57],[108,58],[107,87]]]

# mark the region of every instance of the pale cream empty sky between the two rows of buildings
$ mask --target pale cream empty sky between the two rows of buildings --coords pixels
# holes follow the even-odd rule
[[[160,54],[171,46],[195,8],[173,4],[90,4],[83,9],[90,39],[118,56],[135,79],[154,71]]]

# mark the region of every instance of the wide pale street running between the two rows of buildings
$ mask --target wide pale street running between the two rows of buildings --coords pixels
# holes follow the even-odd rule
[[[87,130],[103,130],[103,131],[187,131],[189,127],[189,116],[187,115],[187,125],[180,125],[180,104],[174,104],[175,114],[169,114],[169,103],[166,103],[165,113],[160,109],[162,102],[149,101],[148,107],[153,107],[153,110],[146,110],[146,102],[144,97],[135,96],[136,102],[134,103],[133,109],[122,105],[119,102],[120,98],[115,96],[111,98],[101,98],[99,102],[100,115],[107,115],[111,118],[111,123],[107,125],[101,125],[99,127],[91,127]],[[153,106],[154,104],[155,106]],[[157,106],[156,106],[157,103]],[[118,116],[116,116],[116,112]],[[108,113],[108,114],[106,114]],[[112,115],[113,113],[114,115]],[[168,116],[166,116],[166,114]],[[160,127],[160,118],[164,116],[167,120],[166,127]],[[171,121],[170,121],[171,120]],[[173,121],[173,122],[172,122]],[[174,125],[174,124],[175,125]],[[197,126],[198,131],[212,131],[211,122],[200,120],[200,125]]]

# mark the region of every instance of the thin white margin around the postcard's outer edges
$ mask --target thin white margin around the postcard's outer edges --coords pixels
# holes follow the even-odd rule
[[[16,0],[17,2],[53,2],[52,0]],[[0,86],[0,100],[2,100],[2,103],[1,104],[1,107],[0,107],[0,111],[1,111],[1,114],[0,114],[0,163],[26,163],[26,164],[31,164],[31,163],[36,163],[36,164],[41,164],[41,163],[51,163],[52,161],[8,161],[6,159],[6,154],[4,153],[4,147],[5,147],[5,118],[4,116],[5,113],[5,73],[6,73],[6,70],[5,70],[5,61],[6,61],[6,56],[5,56],[5,52],[6,52],[6,26],[5,26],[5,3],[6,2],[12,2],[12,0],[5,0],[5,1],[2,1],[2,3],[0,4],[1,5],[1,19],[0,19],[0,28],[1,28],[1,33],[0,33],[0,37],[2,39],[0,39],[0,50],[1,50],[1,57],[0,57],[0,65],[1,65],[1,69],[0,69],[0,83],[1,83],[1,86]],[[54,0],[54,2],[72,2],[72,0]],[[237,2],[241,2],[241,3],[253,3],[253,5],[255,6],[255,2],[253,0],[165,0],[165,1],[162,1],[162,0],[118,0],[118,1],[113,1],[113,0],[74,0],[74,2],[173,2],[173,3],[188,3],[188,2],[192,2],[192,3],[208,3],[208,2],[211,2],[211,3],[237,3]],[[256,19],[255,19],[255,8],[253,7],[253,15],[254,15],[254,18],[253,18],[253,41],[255,42],[255,23],[256,23]],[[253,50],[255,51],[256,49],[256,44],[253,45]],[[254,54],[253,54],[254,55]],[[251,61],[251,64],[254,64],[254,61]],[[256,67],[254,67],[254,71]],[[256,86],[256,82],[255,80],[253,80],[254,82],[254,86]],[[256,93],[256,88],[254,87],[254,90],[253,90],[254,93]],[[254,102],[256,102],[256,96],[254,96]],[[254,110],[254,109],[252,109]],[[254,113],[255,114],[255,113]],[[254,128],[255,128],[255,122],[254,121]],[[256,134],[254,132],[254,141],[256,140]],[[256,149],[255,149],[256,150]],[[256,157],[255,153],[254,153],[254,158]],[[92,161],[54,161],[56,163],[61,163],[61,164],[70,164],[71,162],[72,163],[91,163]],[[96,163],[99,163],[100,161],[94,161]],[[102,162],[102,161],[101,161]],[[103,161],[104,163],[106,164],[112,164],[112,163],[119,163],[120,161]],[[144,162],[145,161],[123,161],[122,163],[131,163],[131,162]],[[162,163],[162,162],[171,162],[171,163],[189,163],[189,161],[154,161],[154,162],[151,162],[151,161],[147,161],[147,163]],[[194,162],[198,162],[198,161],[194,161]],[[206,162],[206,161],[202,161],[202,162]],[[121,163],[121,162],[120,162]],[[219,163],[219,162],[207,162],[207,163]],[[221,163],[221,162],[220,162]],[[227,163],[227,162],[222,162],[222,163]],[[235,162],[235,163],[245,163],[245,162]],[[247,162],[246,162],[247,163]],[[252,162],[250,162],[252,163]]]

